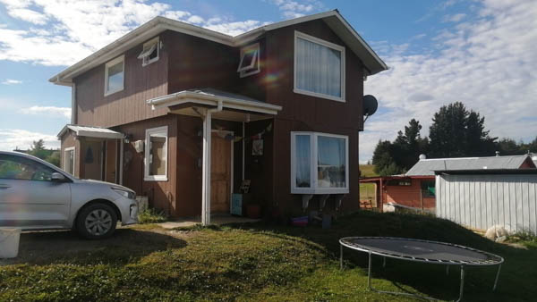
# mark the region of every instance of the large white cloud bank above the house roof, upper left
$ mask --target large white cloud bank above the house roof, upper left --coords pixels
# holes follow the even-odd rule
[[[0,60],[71,65],[124,36],[150,19],[164,15],[179,21],[238,35],[266,22],[206,19],[175,11],[169,4],[145,0],[68,1],[0,0],[13,18],[28,21],[30,29],[0,27]]]

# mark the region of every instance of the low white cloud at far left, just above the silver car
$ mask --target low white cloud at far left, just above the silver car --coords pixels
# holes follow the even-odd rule
[[[43,139],[45,147],[59,148],[60,141],[55,135],[20,129],[0,129],[0,150],[12,151],[15,148],[28,149],[35,140]]]

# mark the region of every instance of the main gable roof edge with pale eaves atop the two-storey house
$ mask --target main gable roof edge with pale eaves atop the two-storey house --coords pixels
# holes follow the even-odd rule
[[[386,63],[379,58],[379,55],[375,54],[371,47],[363,40],[362,37],[360,37],[356,30],[354,30],[353,27],[347,21],[345,21],[343,16],[337,10],[333,10],[325,13],[316,13],[292,20],[268,24],[257,29],[252,29],[235,37],[222,34],[214,30],[204,29],[182,21],[175,21],[158,16],[142,24],[140,27],[133,29],[123,37],[116,39],[107,46],[99,49],[97,52],[86,57],[80,62],[75,63],[66,68],[64,71],[55,74],[55,76],[50,78],[49,81],[55,83],[56,85],[71,86],[72,79],[80,75],[82,72],[89,71],[91,68],[94,68],[102,63],[106,63],[115,58],[117,55],[124,54],[125,51],[131,49],[133,46],[137,46],[165,30],[182,32],[187,35],[208,39],[210,41],[225,44],[227,46],[242,46],[256,38],[259,38],[269,30],[280,29],[286,26],[313,20],[325,21],[328,27],[334,30],[337,36],[341,38],[345,44],[353,50],[354,54],[362,60],[370,75],[388,70],[388,65],[386,65]]]

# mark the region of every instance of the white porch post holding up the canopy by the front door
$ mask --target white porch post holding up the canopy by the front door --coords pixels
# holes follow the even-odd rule
[[[203,118],[203,159],[201,177],[201,224],[210,224],[210,147],[211,110],[205,112]]]

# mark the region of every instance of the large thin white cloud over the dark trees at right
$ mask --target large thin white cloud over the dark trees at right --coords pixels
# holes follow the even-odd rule
[[[428,135],[432,114],[455,101],[482,113],[493,137],[535,137],[537,2],[486,0],[474,13],[439,32],[434,49],[422,55],[379,43],[390,70],[364,83],[380,110],[361,133],[362,162],[371,159],[380,138],[396,138],[412,118]]]

